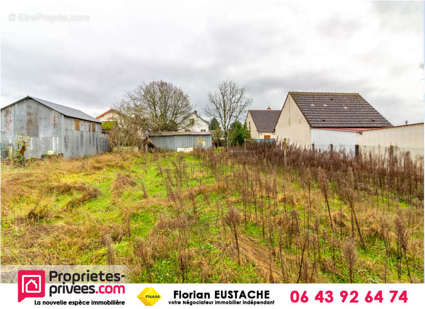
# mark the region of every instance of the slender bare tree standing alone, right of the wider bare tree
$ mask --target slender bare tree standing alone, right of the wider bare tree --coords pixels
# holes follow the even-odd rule
[[[223,134],[228,142],[230,126],[239,116],[248,111],[252,99],[245,96],[245,87],[239,87],[233,81],[220,83],[214,91],[208,92],[208,105],[205,113],[216,117],[223,128]]]

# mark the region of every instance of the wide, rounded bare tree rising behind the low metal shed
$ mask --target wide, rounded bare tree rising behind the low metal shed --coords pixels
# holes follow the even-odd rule
[[[190,126],[188,116],[193,106],[180,88],[164,81],[143,83],[128,92],[124,101],[143,115],[150,131],[178,131]]]

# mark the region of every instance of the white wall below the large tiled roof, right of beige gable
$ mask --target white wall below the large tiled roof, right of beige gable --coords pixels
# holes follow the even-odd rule
[[[334,151],[345,150],[354,154],[356,135],[356,132],[311,128],[311,144],[315,145],[316,150],[322,151],[328,151],[332,144]]]

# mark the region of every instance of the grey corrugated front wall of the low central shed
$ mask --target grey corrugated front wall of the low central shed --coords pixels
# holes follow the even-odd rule
[[[153,144],[161,150],[177,151],[177,148],[193,148],[202,147],[209,148],[212,146],[211,134],[180,134],[165,136],[149,136]]]

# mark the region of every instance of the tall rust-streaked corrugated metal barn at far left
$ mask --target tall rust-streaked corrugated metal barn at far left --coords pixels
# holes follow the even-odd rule
[[[102,123],[80,110],[34,97],[25,97],[1,109],[1,156],[10,146],[17,148],[17,136],[29,137],[25,157],[63,154],[83,157],[109,150]]]

